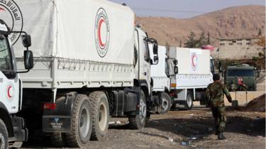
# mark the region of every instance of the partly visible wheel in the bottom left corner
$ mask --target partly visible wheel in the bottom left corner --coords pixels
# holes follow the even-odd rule
[[[4,121],[0,119],[0,148],[6,149],[9,146],[9,136]]]

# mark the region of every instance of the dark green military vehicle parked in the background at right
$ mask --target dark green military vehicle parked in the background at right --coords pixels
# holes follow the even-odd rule
[[[224,72],[224,83],[230,91],[256,91],[257,71],[250,65],[231,65]]]

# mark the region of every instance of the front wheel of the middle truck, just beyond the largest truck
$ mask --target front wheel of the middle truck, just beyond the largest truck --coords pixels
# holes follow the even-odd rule
[[[159,114],[167,114],[167,112],[171,108],[171,98],[168,94],[166,94],[164,92],[161,94],[160,99],[161,99],[161,104],[160,104],[158,113]]]

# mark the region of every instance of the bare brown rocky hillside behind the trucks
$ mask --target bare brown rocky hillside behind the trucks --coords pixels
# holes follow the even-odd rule
[[[211,44],[217,46],[218,38],[250,38],[259,28],[265,33],[265,6],[236,6],[186,19],[138,17],[137,23],[160,45],[179,46],[191,31],[196,35],[209,31]]]

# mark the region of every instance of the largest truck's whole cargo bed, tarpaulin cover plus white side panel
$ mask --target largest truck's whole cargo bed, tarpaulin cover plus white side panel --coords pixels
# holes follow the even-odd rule
[[[130,8],[105,0],[16,2],[35,60],[33,70],[21,74],[24,88],[133,87]],[[23,70],[23,45],[14,48]]]

